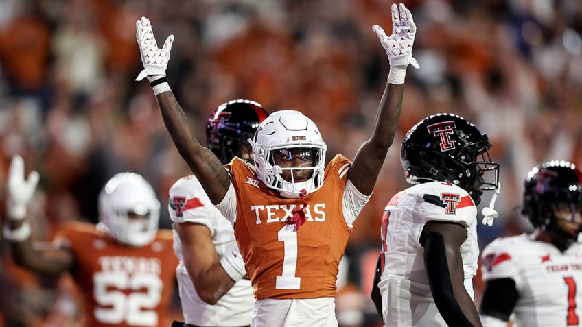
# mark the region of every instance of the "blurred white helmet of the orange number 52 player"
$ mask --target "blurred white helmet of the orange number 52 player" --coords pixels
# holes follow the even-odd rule
[[[147,216],[132,221],[128,213]],[[160,220],[160,202],[154,189],[137,173],[118,173],[99,195],[99,220],[111,236],[132,246],[147,245],[156,236]]]

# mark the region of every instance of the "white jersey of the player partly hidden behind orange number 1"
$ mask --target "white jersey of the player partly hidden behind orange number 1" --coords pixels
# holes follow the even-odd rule
[[[231,223],[211,203],[194,175],[178,180],[170,189],[170,218],[176,223],[200,223],[211,232],[219,260],[236,247]],[[214,305],[200,300],[183,263],[182,245],[174,232],[174,252],[180,260],[176,267],[182,313],[187,324],[196,326],[246,326],[251,324],[255,302],[253,287],[241,279]]]

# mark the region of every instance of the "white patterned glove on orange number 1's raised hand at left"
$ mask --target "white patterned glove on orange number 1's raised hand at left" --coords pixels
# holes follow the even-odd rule
[[[170,61],[170,50],[174,42],[174,35],[168,36],[163,47],[159,49],[149,19],[141,17],[139,21],[135,22],[135,28],[137,29],[135,38],[137,38],[141,63],[143,64],[143,71],[137,75],[135,80],[141,81],[143,78],[148,77],[148,80],[152,82],[164,77],[167,62]]]

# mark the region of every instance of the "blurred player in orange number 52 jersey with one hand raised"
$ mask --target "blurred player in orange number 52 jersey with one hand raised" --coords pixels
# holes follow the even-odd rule
[[[158,230],[160,203],[152,186],[136,173],[118,173],[99,195],[97,226],[71,221],[54,246],[38,248],[25,219],[37,183],[38,173],[25,180],[23,158],[14,156],[3,227],[14,261],[55,278],[70,271],[87,326],[166,326],[178,260],[172,232]]]

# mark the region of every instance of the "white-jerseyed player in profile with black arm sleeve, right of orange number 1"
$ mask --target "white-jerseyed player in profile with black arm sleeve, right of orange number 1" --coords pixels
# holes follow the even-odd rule
[[[385,326],[481,326],[472,278],[476,204],[483,190],[498,189],[490,147],[487,135],[454,114],[426,117],[404,137],[401,162],[415,185],[384,209],[372,294]]]

